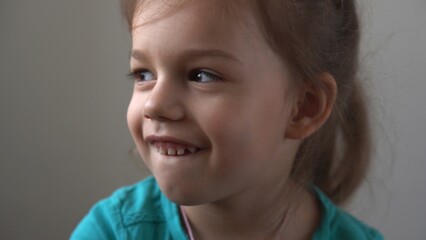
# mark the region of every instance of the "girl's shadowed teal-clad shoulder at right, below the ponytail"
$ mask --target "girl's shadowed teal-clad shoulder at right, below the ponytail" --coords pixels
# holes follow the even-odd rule
[[[337,207],[318,188],[314,189],[321,203],[322,216],[313,240],[383,240],[382,234],[376,229]]]

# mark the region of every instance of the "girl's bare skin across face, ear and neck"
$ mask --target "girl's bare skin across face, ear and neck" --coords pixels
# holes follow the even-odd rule
[[[296,89],[249,9],[188,1],[170,14],[153,1],[136,14],[128,125],[163,193],[185,206],[195,239],[309,239],[315,198],[289,173],[301,140],[328,118],[333,94]],[[190,146],[168,156],[158,146]],[[283,216],[286,227],[280,233]]]

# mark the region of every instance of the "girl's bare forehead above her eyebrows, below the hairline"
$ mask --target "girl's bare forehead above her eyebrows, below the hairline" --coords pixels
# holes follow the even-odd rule
[[[158,45],[160,42],[172,45],[181,41],[196,46],[233,45],[238,48],[244,43],[251,49],[264,45],[263,34],[254,17],[242,8],[238,12],[231,10],[232,6],[225,6],[227,2],[230,1],[186,0],[178,1],[179,5],[151,2],[135,16],[134,47],[138,44],[145,47]]]

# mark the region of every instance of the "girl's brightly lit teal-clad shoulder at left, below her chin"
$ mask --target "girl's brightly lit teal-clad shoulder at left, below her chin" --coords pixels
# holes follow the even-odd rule
[[[71,239],[185,239],[178,207],[153,177],[116,190],[96,203]]]

